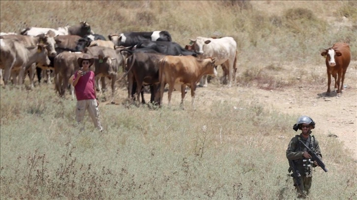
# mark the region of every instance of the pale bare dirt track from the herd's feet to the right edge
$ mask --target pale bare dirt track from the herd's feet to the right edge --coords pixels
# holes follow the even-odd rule
[[[316,127],[313,130],[314,135],[317,137],[336,137],[344,143],[343,148],[352,151],[354,159],[357,160],[356,66],[357,61],[351,61],[344,82],[346,88],[339,97],[335,92],[331,92],[330,96],[326,95],[327,75],[326,66],[323,63],[321,66],[315,67],[319,69],[319,73],[323,77],[326,77],[324,83],[310,84],[302,82],[299,85],[279,88],[279,90],[264,90],[254,86],[233,86],[228,88],[227,85],[208,84],[207,88],[197,88],[195,107],[196,109],[205,109],[204,107],[209,107],[210,102],[220,99],[232,102],[238,100],[258,100],[266,105],[267,108],[276,109],[281,113],[308,115],[316,122]],[[333,89],[333,84],[332,78],[331,90]],[[118,92],[120,95],[127,95],[126,91]],[[149,94],[145,94],[145,98],[149,100]],[[167,98],[167,92],[165,92],[163,98],[164,105],[168,103]],[[174,91],[171,106],[179,108],[180,100],[180,92]],[[119,101],[122,101],[122,99]],[[110,102],[108,101],[107,103]],[[186,109],[192,109],[190,92],[187,92],[184,104]],[[280,136],[279,133],[277,133],[278,136]]]

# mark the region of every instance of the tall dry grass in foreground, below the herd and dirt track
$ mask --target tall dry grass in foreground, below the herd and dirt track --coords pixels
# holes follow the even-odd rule
[[[51,92],[0,91],[1,199],[295,198],[285,150],[297,116],[254,97],[210,112],[101,106],[99,133],[89,118],[79,132],[75,101]],[[355,198],[356,164],[337,140],[315,135],[329,172],[316,169],[310,198]]]

